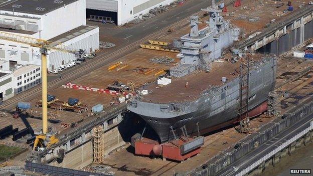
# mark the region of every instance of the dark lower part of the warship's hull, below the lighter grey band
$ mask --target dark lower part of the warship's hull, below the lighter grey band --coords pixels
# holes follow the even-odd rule
[[[249,117],[255,117],[267,110],[267,94],[273,90],[274,85],[275,83],[272,83],[272,85],[260,89],[258,93],[256,93],[256,95],[258,95],[257,98],[249,102]],[[160,141],[165,142],[174,139],[175,136],[184,135],[182,127],[186,127],[188,135],[198,135],[198,129],[200,135],[203,135],[234,125],[241,120],[238,116],[238,112],[239,105],[235,104],[215,115],[210,115],[210,110],[204,109],[202,111],[195,111],[172,118],[157,118],[140,114],[139,116],[159,135]]]

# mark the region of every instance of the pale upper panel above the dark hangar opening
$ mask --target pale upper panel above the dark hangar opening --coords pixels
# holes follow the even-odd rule
[[[87,0],[86,9],[117,12],[117,1],[113,0]]]

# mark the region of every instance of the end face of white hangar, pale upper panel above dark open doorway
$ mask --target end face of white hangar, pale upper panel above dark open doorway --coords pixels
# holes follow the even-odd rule
[[[117,0],[86,0],[86,18],[90,15],[111,17],[117,24]]]

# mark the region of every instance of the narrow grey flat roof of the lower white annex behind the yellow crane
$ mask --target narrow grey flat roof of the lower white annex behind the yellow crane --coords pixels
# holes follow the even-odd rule
[[[49,42],[52,42],[52,44],[50,44],[50,46],[54,47],[54,46],[57,46],[59,45],[60,43],[64,43],[70,39],[73,39],[77,36],[80,36],[84,33],[87,33],[93,29],[96,29],[98,27],[95,27],[95,26],[79,26],[75,29],[72,29],[71,31],[68,31],[68,32],[65,32],[61,35],[58,35],[52,39],[49,39],[48,41]]]

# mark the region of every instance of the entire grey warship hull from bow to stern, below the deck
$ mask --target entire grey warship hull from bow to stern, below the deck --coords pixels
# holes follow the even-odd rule
[[[274,89],[276,60],[269,58],[250,72],[249,117],[267,110],[267,95]],[[159,135],[161,142],[188,134],[200,135],[240,121],[239,78],[187,102],[168,104],[133,100],[128,109],[141,116]]]

